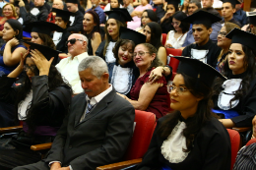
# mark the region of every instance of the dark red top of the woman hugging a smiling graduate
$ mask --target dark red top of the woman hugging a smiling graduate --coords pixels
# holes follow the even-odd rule
[[[133,85],[130,91],[132,100],[138,100],[142,85],[148,82],[150,74],[151,71],[147,72],[143,77],[138,78],[138,80],[135,82],[135,85]],[[157,83],[163,83],[163,85],[160,86],[157,92],[155,93],[146,111],[154,113],[157,119],[159,119],[168,112],[169,106],[167,104],[168,92],[166,88],[167,83],[165,81],[165,78],[161,77],[160,80],[157,81]]]

